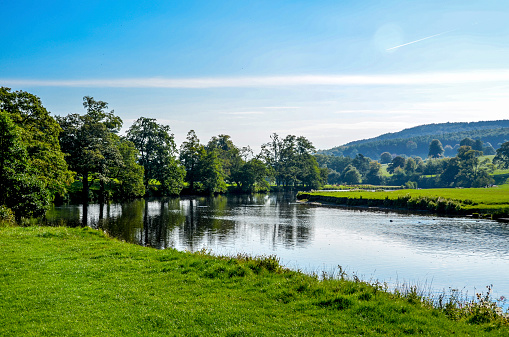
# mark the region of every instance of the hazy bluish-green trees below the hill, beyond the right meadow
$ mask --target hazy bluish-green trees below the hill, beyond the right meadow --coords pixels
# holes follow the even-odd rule
[[[482,158],[485,149],[480,140],[464,138],[460,141],[454,157],[445,157],[445,148],[438,139],[428,144],[426,160],[421,157],[380,154],[380,162],[362,154],[354,158],[316,154],[322,167],[329,169],[331,184],[372,184],[405,186],[408,188],[434,187],[484,187],[495,181],[495,169],[509,168],[509,142],[501,145],[491,161]],[[381,164],[387,164],[389,175],[382,174]]]

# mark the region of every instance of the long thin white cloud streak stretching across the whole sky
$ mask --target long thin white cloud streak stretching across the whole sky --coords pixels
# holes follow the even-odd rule
[[[509,81],[509,69],[463,72],[436,72],[393,75],[294,75],[210,78],[131,78],[88,80],[0,79],[3,85],[30,87],[97,87],[97,88],[243,88],[281,86],[366,86],[366,85],[432,85]]]

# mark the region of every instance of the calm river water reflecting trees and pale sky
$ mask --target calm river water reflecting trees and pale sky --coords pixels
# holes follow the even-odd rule
[[[292,269],[390,286],[509,297],[509,225],[490,220],[297,204],[293,195],[136,200],[55,207],[51,224],[85,222],[127,242],[214,254],[277,255]],[[506,305],[505,305],[506,306]]]

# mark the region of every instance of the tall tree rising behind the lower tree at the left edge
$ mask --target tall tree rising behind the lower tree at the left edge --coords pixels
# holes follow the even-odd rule
[[[62,131],[57,121],[44,108],[39,97],[26,91],[0,87],[0,110],[20,129],[20,141],[27,150],[33,174],[52,195],[64,195],[72,181],[64,153],[60,148]]]

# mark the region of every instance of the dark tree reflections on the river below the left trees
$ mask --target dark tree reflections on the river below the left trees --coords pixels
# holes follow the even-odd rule
[[[102,229],[126,242],[164,249],[199,250],[227,244],[258,230],[271,245],[302,247],[312,238],[308,208],[293,195],[139,199],[123,204],[64,205],[46,216],[48,225]]]

